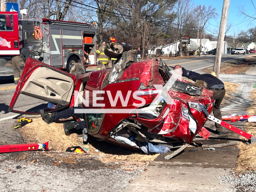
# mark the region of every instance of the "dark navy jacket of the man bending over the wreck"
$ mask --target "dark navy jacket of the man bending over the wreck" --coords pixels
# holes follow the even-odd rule
[[[193,80],[194,82],[196,82],[196,80],[202,80],[207,83],[206,88],[208,88],[208,89],[214,85],[223,85],[223,87],[224,87],[224,83],[211,74],[208,74],[208,73],[199,74],[194,71],[188,71],[188,70],[184,69],[183,67],[182,67],[182,70],[183,70],[182,76],[187,77],[187,78]]]

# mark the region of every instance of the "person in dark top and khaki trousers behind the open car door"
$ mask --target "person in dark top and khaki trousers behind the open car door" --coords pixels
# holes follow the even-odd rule
[[[20,80],[20,76],[22,74],[26,60],[30,56],[30,53],[32,51],[33,51],[32,46],[22,48],[20,50],[20,55],[12,58],[12,68],[13,68],[13,72],[14,72],[14,84],[18,84],[18,81]]]

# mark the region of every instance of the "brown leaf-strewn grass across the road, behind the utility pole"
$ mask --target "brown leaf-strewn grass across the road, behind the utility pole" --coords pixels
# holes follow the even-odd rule
[[[224,62],[220,65],[221,74],[244,74],[253,64],[255,64],[256,56],[248,56],[244,58],[238,58],[229,62]],[[212,73],[213,68],[208,67],[202,71],[206,73]]]

